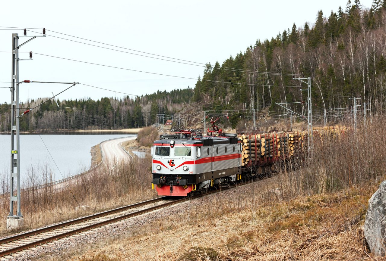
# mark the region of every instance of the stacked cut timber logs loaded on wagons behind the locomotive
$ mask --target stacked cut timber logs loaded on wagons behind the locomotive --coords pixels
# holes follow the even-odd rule
[[[239,135],[242,143],[242,166],[262,165],[291,157],[303,151],[307,140],[305,132],[274,132],[256,135]]]

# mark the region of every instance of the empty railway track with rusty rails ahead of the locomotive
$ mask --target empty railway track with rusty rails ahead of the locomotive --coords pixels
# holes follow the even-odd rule
[[[119,207],[117,209],[81,217],[56,225],[43,227],[33,231],[25,232],[11,237],[0,239],[0,257],[12,253],[33,248],[41,244],[71,236],[89,229],[105,226],[129,217],[134,217],[145,212],[160,209],[185,201],[185,198],[170,199],[168,196],[151,199],[140,203]]]

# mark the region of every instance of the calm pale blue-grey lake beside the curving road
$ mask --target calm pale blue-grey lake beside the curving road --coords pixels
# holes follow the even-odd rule
[[[20,134],[20,180],[27,175],[31,165],[45,164],[52,170],[54,180],[76,175],[88,170],[91,165],[92,146],[113,138],[135,136],[130,134],[90,134],[90,133],[66,133],[58,134]],[[16,136],[15,136],[16,137]],[[52,161],[42,139],[54,158],[58,168]],[[0,173],[10,173],[10,146],[11,136],[0,135]]]

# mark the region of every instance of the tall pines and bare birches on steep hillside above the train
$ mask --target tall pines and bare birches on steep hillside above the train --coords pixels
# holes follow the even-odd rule
[[[207,64],[194,100],[203,100],[204,109],[254,110],[257,118],[264,108],[278,118],[288,110],[276,103],[287,103],[303,116],[307,93],[300,89],[306,84],[293,78],[311,77],[316,120],[326,124],[337,115],[351,116],[354,97],[372,116],[385,110],[385,57],[386,1],[374,0],[365,10],[359,0],[349,0],[328,18],[320,10],[312,27],[293,24],[221,65]]]

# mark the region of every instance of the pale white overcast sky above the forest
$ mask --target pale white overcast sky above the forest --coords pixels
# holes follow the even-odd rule
[[[354,2],[354,1],[352,1]],[[364,8],[371,0],[362,0]],[[313,24],[318,10],[325,16],[346,0],[275,0],[275,1],[2,1],[0,26],[43,28],[119,47],[193,62],[214,64],[244,52],[256,39],[271,39],[278,32],[295,24],[303,27]],[[0,28],[1,29],[1,28]],[[3,28],[4,29],[4,28]],[[31,29],[32,30],[32,29]],[[34,30],[41,33],[42,30]],[[0,30],[0,51],[11,51],[12,33],[23,35],[22,30]],[[51,31],[54,35],[87,42]],[[27,35],[39,35],[27,32]],[[20,38],[19,44],[25,38]],[[108,45],[87,42],[125,52]],[[34,54],[32,61],[20,61],[20,81],[79,82],[129,94],[142,95],[157,90],[194,88],[203,67],[162,61],[112,51],[90,45],[70,42],[52,36],[38,37],[20,47],[20,52],[36,52],[108,66],[138,71],[168,74],[195,79],[161,76],[93,64],[68,61]],[[148,55],[152,56],[152,55]],[[21,53],[20,59],[28,58]],[[153,56],[154,57],[154,56]],[[159,57],[162,58],[162,57]],[[167,58],[164,58],[167,59]],[[176,60],[174,60],[176,61]],[[198,64],[200,65],[200,64]],[[11,80],[11,54],[0,53],[0,81]],[[7,87],[9,83],[0,83]],[[65,89],[63,84],[20,85],[20,99],[52,96]],[[59,99],[80,99],[106,96],[123,97],[125,94],[76,85]],[[130,96],[134,97],[134,96]],[[10,102],[8,88],[0,88],[0,103]]]

